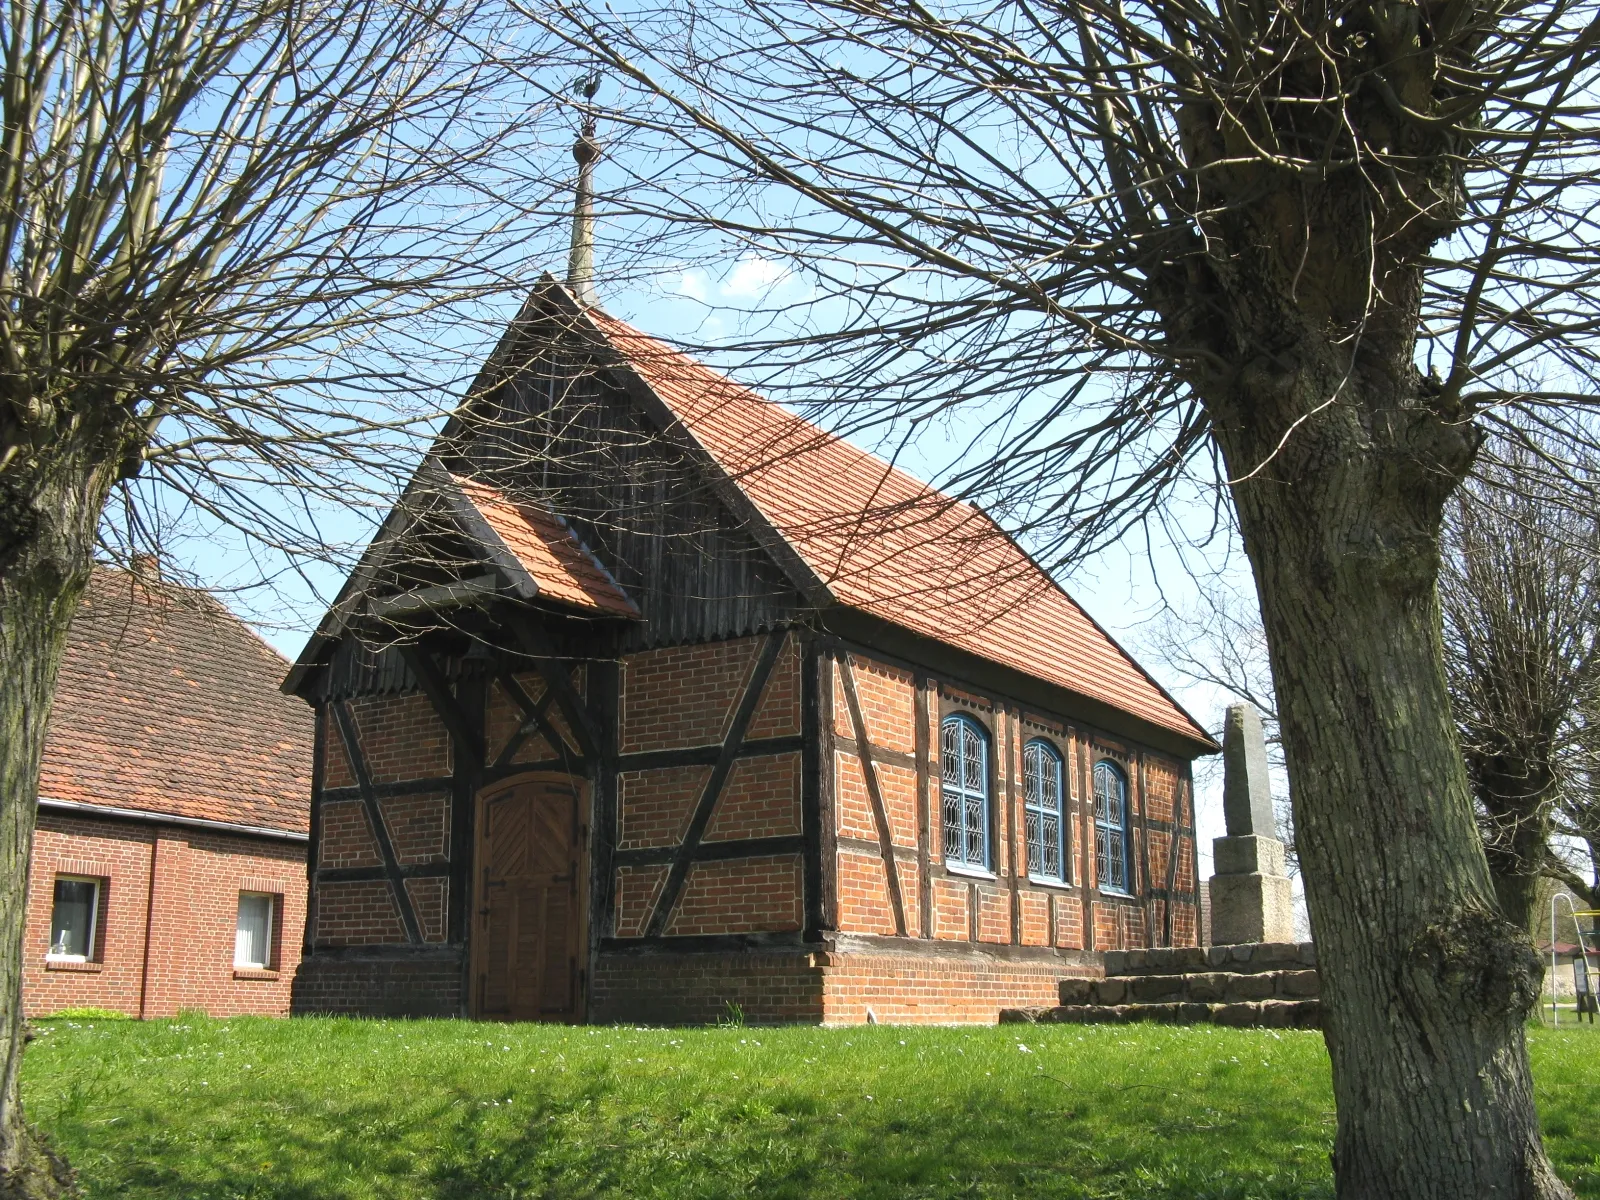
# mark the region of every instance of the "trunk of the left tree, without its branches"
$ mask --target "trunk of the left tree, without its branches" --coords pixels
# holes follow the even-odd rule
[[[86,472],[93,475],[94,472]],[[54,1197],[70,1171],[22,1117],[22,934],[45,725],[88,581],[104,488],[0,493],[0,1198]]]

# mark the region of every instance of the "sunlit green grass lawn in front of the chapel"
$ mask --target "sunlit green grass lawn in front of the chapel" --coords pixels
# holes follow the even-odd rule
[[[1213,1027],[40,1022],[32,1118],[98,1197],[1325,1197],[1322,1037]],[[1534,1030],[1600,1198],[1600,1029]]]

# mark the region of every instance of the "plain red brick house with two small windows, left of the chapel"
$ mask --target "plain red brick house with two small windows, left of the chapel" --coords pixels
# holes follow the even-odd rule
[[[306,920],[312,720],[205,592],[98,566],[40,773],[29,1014],[282,1014]]]

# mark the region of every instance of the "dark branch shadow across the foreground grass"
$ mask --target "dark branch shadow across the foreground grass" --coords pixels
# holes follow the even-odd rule
[[[510,1131],[461,1120],[426,1194],[438,1200],[1331,1195],[1325,1131],[1307,1131],[1282,1110],[1174,1112],[1126,1093],[1074,1101],[1053,1080],[1027,1080],[1019,1093],[946,1090],[939,1104],[896,1099],[904,1098],[862,1096],[835,1109],[810,1091],[771,1088],[640,1109],[597,1075],[560,1101],[546,1098]],[[1274,1149],[1288,1146],[1298,1162],[1285,1165]]]

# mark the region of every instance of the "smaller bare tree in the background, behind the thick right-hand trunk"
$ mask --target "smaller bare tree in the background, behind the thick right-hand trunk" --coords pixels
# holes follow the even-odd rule
[[[1510,448],[1445,517],[1440,600],[1451,710],[1501,910],[1523,930],[1562,859],[1563,797],[1587,786],[1600,702],[1600,530],[1587,490]],[[1587,472],[1586,472],[1587,474]]]

